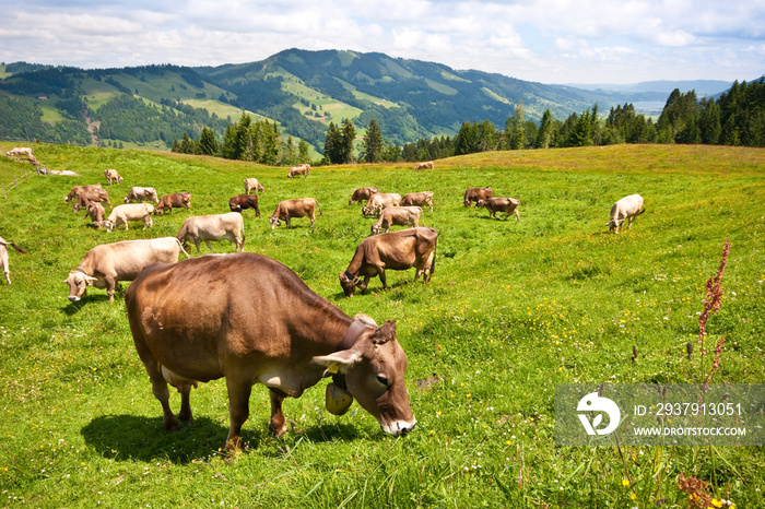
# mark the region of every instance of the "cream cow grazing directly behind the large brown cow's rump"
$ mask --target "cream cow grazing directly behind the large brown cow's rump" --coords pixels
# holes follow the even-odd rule
[[[118,281],[132,281],[144,267],[156,262],[175,263],[183,251],[175,237],[102,244],[87,251],[80,265],[69,272],[69,300],[76,303],[85,296],[89,286],[106,288],[109,303],[114,301]],[[188,253],[184,251],[188,257]]]

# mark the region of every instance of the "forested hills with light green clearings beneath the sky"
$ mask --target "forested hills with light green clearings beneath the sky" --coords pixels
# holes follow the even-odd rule
[[[204,126],[223,140],[243,111],[323,147],[330,122],[375,119],[402,145],[455,135],[464,121],[503,129],[519,104],[526,119],[546,109],[566,118],[598,104],[666,99],[649,92],[585,91],[501,74],[354,51],[290,49],[266,60],[220,67],[149,66],[83,70],[16,62],[0,66],[0,138],[110,146],[169,147]]]

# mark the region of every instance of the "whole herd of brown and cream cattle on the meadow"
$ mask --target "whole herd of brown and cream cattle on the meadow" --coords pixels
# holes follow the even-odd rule
[[[433,169],[429,166],[415,169]],[[287,177],[307,177],[310,167],[292,168]],[[297,173],[302,171],[302,173]],[[116,170],[107,169],[109,185],[122,182]],[[229,430],[226,448],[242,447],[240,431],[249,416],[249,395],[255,383],[270,390],[269,427],[280,436],[287,430],[282,402],[297,398],[322,378],[327,386],[326,406],[336,415],[345,413],[353,402],[370,413],[382,430],[402,435],[412,430],[412,413],[404,382],[407,355],[397,340],[396,322],[378,327],[369,317],[350,318],[340,308],[317,295],[289,268],[261,254],[244,251],[242,212],[254,209],[260,217],[258,192],[263,186],[246,179],[245,194],[232,197],[232,212],[187,217],[175,237],[123,240],[103,244],[87,251],[79,267],[64,281],[69,300],[78,301],[87,286],[106,288],[109,303],[119,281],[132,281],[125,295],[133,342],[151,379],[152,392],[161,402],[165,429],[175,430],[192,421],[189,403],[192,387],[199,381],[226,378],[229,403]],[[250,194],[255,191],[256,194]],[[490,215],[511,214],[516,221],[519,200],[492,196],[491,188],[470,188],[463,204],[485,208]],[[348,269],[339,275],[346,297],[356,288],[364,292],[369,280],[379,276],[387,286],[386,270],[415,269],[415,281],[427,283],[435,268],[438,233],[421,226],[423,208],[433,212],[432,191],[404,194],[381,193],[377,188],[354,190],[349,205],[364,203],[364,216],[377,215],[370,236],[362,240]],[[191,194],[177,192],[157,197],[154,188],[133,187],[123,204],[106,217],[103,202],[111,206],[101,185],[76,186],[67,197],[74,211],[87,210],[85,217],[107,232],[129,222],[153,225],[152,216],[190,211]],[[308,217],[313,227],[319,203],[314,198],[279,202],[269,217],[273,229],[281,222]],[[619,226],[633,220],[645,208],[638,194],[616,202],[608,225]],[[84,218],[84,217],[83,217]],[[393,225],[410,228],[390,232]],[[380,233],[385,232],[385,233]],[[190,258],[190,242],[200,250],[204,241],[228,240],[236,252]],[[0,238],[0,261],[10,284],[7,246],[24,252]],[[180,252],[187,259],[178,262]],[[169,406],[168,384],[180,393],[177,418]]]

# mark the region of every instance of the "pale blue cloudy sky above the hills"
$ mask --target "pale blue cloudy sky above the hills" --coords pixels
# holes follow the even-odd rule
[[[0,61],[217,66],[379,51],[542,83],[753,80],[765,2],[0,0]]]

